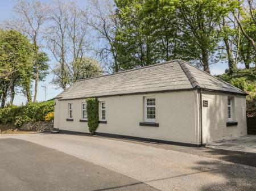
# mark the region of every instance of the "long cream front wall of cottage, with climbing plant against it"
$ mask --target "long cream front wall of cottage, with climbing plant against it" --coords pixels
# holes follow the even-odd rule
[[[143,97],[155,96],[156,123],[159,127],[139,126],[144,122]],[[183,143],[198,143],[197,91],[164,92],[158,94],[101,97],[106,102],[107,124],[99,124],[97,132],[162,139]],[[80,100],[56,100],[55,128],[89,133],[86,122],[80,122]],[[73,104],[73,121],[68,118],[68,103]],[[198,135],[197,135],[198,137]]]

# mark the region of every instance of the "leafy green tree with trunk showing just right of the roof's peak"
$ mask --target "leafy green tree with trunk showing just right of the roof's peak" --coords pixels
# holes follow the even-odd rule
[[[210,73],[210,59],[215,58],[220,41],[218,24],[223,15],[220,1],[180,0],[175,5],[181,51],[191,60],[199,60],[204,71]]]

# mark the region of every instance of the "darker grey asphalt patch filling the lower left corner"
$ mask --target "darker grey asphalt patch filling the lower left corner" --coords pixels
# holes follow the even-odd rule
[[[0,190],[157,190],[104,167],[19,139],[0,139]]]

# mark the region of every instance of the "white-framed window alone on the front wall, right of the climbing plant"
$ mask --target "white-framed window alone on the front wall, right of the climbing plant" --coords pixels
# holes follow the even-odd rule
[[[155,122],[155,97],[145,97],[145,121]]]

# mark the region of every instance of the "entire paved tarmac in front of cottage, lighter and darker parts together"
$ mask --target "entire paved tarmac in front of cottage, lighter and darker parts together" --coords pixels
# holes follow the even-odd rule
[[[27,144],[31,146],[22,151]],[[25,182],[31,190],[47,190],[47,182],[53,188],[48,190],[256,190],[256,168],[250,165],[116,139],[67,134],[2,135],[0,156],[1,180],[3,173],[11,173],[9,178],[3,176],[7,182],[3,186],[10,185],[11,179],[14,186]],[[42,164],[36,165],[40,160]],[[24,181],[22,175],[27,177]]]

